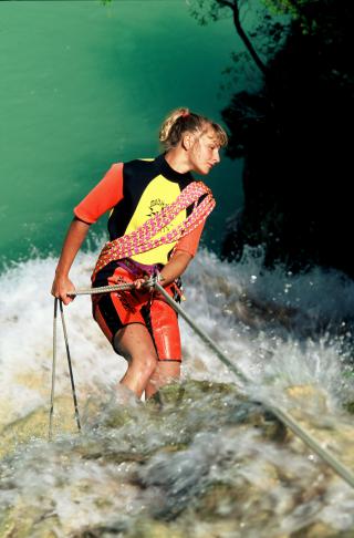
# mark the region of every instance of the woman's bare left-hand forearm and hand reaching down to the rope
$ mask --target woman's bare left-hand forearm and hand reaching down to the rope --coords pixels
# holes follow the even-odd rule
[[[61,299],[64,304],[69,304],[73,300],[73,298],[66,296],[69,291],[74,291],[75,289],[74,284],[69,279],[69,271],[87,235],[88,228],[88,224],[74,218],[64,240],[52,286],[52,296]]]

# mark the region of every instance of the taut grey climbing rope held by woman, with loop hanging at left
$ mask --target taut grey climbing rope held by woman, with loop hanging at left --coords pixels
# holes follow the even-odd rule
[[[185,312],[183,308],[165,291],[165,289],[159,283],[159,276],[155,275],[152,276],[149,279],[146,280],[144,286],[148,286],[149,288],[154,288],[156,291],[162,293],[165,298],[166,302],[178,313],[181,318],[191,327],[191,329],[200,337],[200,339],[216,353],[218,359],[237,376],[238,380],[242,382],[242,384],[250,384],[251,380],[244,375],[244,373],[238,369],[223,353],[223,351],[219,348],[219,345],[202,330],[200,329],[195,321]],[[121,283],[116,286],[105,286],[102,288],[87,288],[81,289],[73,292],[67,293],[70,297],[81,296],[81,294],[93,294],[93,293],[107,293],[112,291],[124,291],[134,288],[134,283]],[[55,319],[56,319],[56,301],[54,301],[54,333],[53,333],[53,373],[52,373],[52,395],[51,395],[51,411],[50,411],[50,438],[51,438],[51,430],[52,430],[52,415],[53,415],[53,402],[54,402],[54,376],[55,376],[55,346],[56,346],[56,332],[55,332]],[[66,344],[66,354],[69,361],[69,369],[71,372],[71,380],[72,380],[72,390],[73,390],[73,397],[74,397],[74,405],[75,405],[75,415],[77,422],[77,428],[81,430],[80,425],[80,417],[79,417],[79,410],[77,410],[77,402],[74,389],[74,380],[72,376],[72,369],[71,369],[71,361],[70,361],[70,352],[69,352],[69,344],[67,344],[67,337],[66,330],[64,324],[64,317],[63,317],[63,307],[62,302],[60,301],[61,307],[61,314],[62,314],[62,323],[63,323],[63,331],[65,337],[65,344]],[[242,384],[240,389],[243,389]],[[323,448],[319,442],[310,435],[300,424],[287,413],[284,410],[269,405],[262,402],[262,405],[272,413],[281,423],[289,427],[298,437],[302,439],[302,442],[308,445],[321,459],[323,459],[339,476],[341,476],[350,486],[354,487],[354,474],[345,467],[336,457],[334,457],[327,449]]]

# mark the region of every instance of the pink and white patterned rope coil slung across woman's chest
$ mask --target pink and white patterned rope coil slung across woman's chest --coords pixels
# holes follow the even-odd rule
[[[198,200],[202,195],[206,196],[201,203],[198,204]],[[163,228],[168,226],[180,211],[192,204],[194,208],[189,217],[177,225],[171,231],[168,231],[168,234],[158,238],[155,237]],[[136,230],[118,237],[113,241],[106,242],[100,254],[92,279],[94,279],[96,273],[110,263],[110,261],[131,258],[132,256],[146,252],[147,250],[153,250],[160,245],[178,241],[204,223],[215,206],[216,201],[209,187],[202,182],[190,183],[181,190],[175,201],[164,207],[164,209],[146,220]]]

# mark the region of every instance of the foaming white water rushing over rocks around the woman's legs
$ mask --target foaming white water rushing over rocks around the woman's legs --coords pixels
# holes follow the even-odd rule
[[[94,260],[77,257],[77,288]],[[253,380],[251,402],[285,407],[354,472],[354,283],[261,261],[201,250],[183,308]],[[54,267],[32,259],[0,277],[1,538],[354,536],[354,490],[294,436],[264,436],[257,405],[238,399],[239,382],[183,320],[185,394],[162,408],[124,407],[115,385],[125,362],[92,320],[91,299],[77,297],[65,318],[83,433],[59,328],[48,443]]]

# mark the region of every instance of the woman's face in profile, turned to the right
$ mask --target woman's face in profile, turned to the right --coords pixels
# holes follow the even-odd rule
[[[188,149],[191,169],[197,174],[209,174],[211,168],[220,163],[219,149],[220,145],[211,127],[201,135],[191,136]]]

